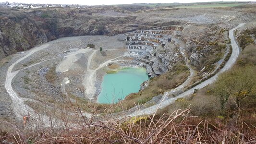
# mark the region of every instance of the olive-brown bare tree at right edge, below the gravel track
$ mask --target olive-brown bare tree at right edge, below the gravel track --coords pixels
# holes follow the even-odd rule
[[[213,91],[219,97],[220,107],[224,109],[230,96],[233,96],[238,108],[247,96],[250,96],[256,87],[255,68],[246,66],[219,76]]]

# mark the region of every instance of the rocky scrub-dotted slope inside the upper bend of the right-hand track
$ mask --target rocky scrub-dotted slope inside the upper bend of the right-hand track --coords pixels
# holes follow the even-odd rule
[[[222,46],[228,42],[228,31],[226,24],[189,25],[183,30],[185,35],[181,36],[187,48],[190,64],[201,71],[205,64],[213,65],[224,49]]]

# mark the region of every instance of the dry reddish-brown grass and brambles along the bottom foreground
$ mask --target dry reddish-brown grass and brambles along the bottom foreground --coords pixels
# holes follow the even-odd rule
[[[255,143],[255,130],[232,132],[219,120],[207,121],[189,115],[190,109],[174,111],[169,116],[145,116],[122,120],[104,117],[86,120],[73,127],[22,128],[9,122],[12,128],[0,131],[1,143],[15,144],[242,144]],[[219,125],[218,125],[219,123]],[[243,124],[246,127],[245,124]],[[247,133],[250,132],[250,133]],[[252,134],[252,135],[251,135]]]

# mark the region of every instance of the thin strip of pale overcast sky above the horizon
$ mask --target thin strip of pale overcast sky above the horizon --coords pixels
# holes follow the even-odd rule
[[[54,3],[54,4],[82,4],[82,5],[107,5],[107,4],[130,4],[130,3],[172,3],[172,2],[208,2],[222,0],[0,0],[0,2],[23,2],[23,3]],[[235,0],[223,0],[235,1]],[[237,0],[250,1],[250,0]],[[255,1],[255,0],[251,0]]]

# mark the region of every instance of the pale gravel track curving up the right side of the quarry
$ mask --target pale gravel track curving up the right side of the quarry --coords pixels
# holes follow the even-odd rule
[[[192,95],[194,93],[194,90],[195,89],[201,89],[205,86],[207,86],[208,84],[212,84],[214,81],[217,80],[217,77],[220,73],[222,72],[225,72],[227,70],[229,70],[234,64],[235,64],[235,61],[237,60],[238,56],[239,56],[239,53],[240,53],[240,47],[237,45],[237,42],[235,41],[235,37],[234,37],[234,30],[236,30],[237,28],[239,27],[242,27],[244,24],[239,24],[237,27],[231,29],[229,31],[229,37],[231,39],[231,46],[232,46],[232,55],[230,57],[230,59],[227,61],[227,63],[225,64],[225,66],[217,73],[215,74],[214,76],[212,76],[211,78],[209,78],[208,80],[204,81],[203,83],[201,84],[198,84],[196,85],[195,87],[185,91],[184,93],[176,96],[176,97],[173,97],[173,98],[169,98],[167,100],[163,100],[159,103],[159,104],[156,104],[156,105],[153,105],[149,108],[145,108],[143,110],[138,110],[138,111],[135,111],[131,114],[128,114],[126,116],[128,117],[134,117],[134,116],[140,116],[140,115],[150,115],[150,114],[153,114],[155,113],[159,108],[164,108],[168,105],[170,105],[171,103],[173,103],[177,98],[181,98],[181,97],[185,97],[185,96],[189,96],[189,95]],[[164,95],[164,97],[166,97],[169,93],[166,93]]]

